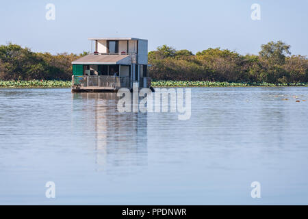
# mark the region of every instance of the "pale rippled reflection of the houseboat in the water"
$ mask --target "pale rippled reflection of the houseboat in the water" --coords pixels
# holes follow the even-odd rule
[[[148,116],[116,112],[118,99],[114,92],[73,93],[73,130],[84,130],[76,138],[94,149],[97,171],[127,175],[148,164]]]

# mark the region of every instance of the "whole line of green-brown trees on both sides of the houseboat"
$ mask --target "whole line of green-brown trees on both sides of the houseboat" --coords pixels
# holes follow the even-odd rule
[[[72,64],[87,55],[34,53],[17,44],[0,46],[1,80],[70,80]],[[307,83],[308,59],[292,55],[284,42],[262,44],[258,55],[240,55],[228,49],[206,49],[193,54],[167,45],[149,52],[154,80]]]

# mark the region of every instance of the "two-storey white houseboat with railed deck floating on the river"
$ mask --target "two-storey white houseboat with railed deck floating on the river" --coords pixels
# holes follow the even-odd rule
[[[139,88],[151,88],[148,40],[138,38],[90,38],[89,40],[94,45],[94,52],[72,62],[73,92],[116,92],[120,88],[131,90],[133,84]]]

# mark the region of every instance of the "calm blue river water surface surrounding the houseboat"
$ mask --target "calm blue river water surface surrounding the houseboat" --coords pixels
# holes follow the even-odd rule
[[[181,121],[120,114],[112,94],[0,89],[0,204],[307,205],[303,100],[308,88],[192,88]]]

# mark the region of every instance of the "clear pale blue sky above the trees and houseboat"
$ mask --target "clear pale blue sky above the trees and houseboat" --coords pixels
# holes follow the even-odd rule
[[[55,5],[47,20],[46,5]],[[251,5],[261,7],[253,21]],[[308,0],[1,0],[0,44],[32,51],[90,51],[88,38],[149,40],[149,51],[167,44],[193,53],[220,47],[245,55],[282,40],[294,55],[308,55]]]

